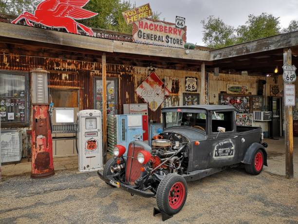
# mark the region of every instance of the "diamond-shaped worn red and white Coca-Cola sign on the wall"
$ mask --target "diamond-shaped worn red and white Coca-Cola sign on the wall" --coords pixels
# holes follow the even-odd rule
[[[148,102],[148,106],[152,111],[156,111],[170,95],[168,87],[155,72],[152,72],[135,92],[143,101]]]

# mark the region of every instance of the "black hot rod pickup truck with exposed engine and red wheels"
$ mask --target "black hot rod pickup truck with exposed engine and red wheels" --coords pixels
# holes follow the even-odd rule
[[[233,106],[167,107],[162,116],[164,131],[151,146],[141,141],[130,142],[128,149],[115,145],[114,158],[98,171],[102,180],[131,195],[155,197],[159,209],[173,215],[186,202],[186,182],[240,164],[258,175],[267,165],[261,128],[237,126]]]

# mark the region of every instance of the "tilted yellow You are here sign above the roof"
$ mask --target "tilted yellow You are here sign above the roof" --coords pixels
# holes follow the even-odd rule
[[[143,20],[149,16],[152,16],[152,10],[149,3],[140,7],[125,11],[122,13],[127,24]]]

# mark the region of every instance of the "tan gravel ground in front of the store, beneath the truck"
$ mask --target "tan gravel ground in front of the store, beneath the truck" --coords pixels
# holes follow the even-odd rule
[[[298,224],[298,180],[227,169],[188,183],[184,208],[165,223]],[[130,196],[103,183],[96,173],[60,171],[0,183],[0,223],[161,223],[154,198]]]

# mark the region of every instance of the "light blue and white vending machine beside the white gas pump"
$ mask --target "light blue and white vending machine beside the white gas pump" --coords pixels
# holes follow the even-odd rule
[[[143,123],[141,114],[108,114],[108,151],[112,153],[114,145],[121,144],[128,149],[134,140],[143,141]],[[126,156],[126,153],[124,156]]]

